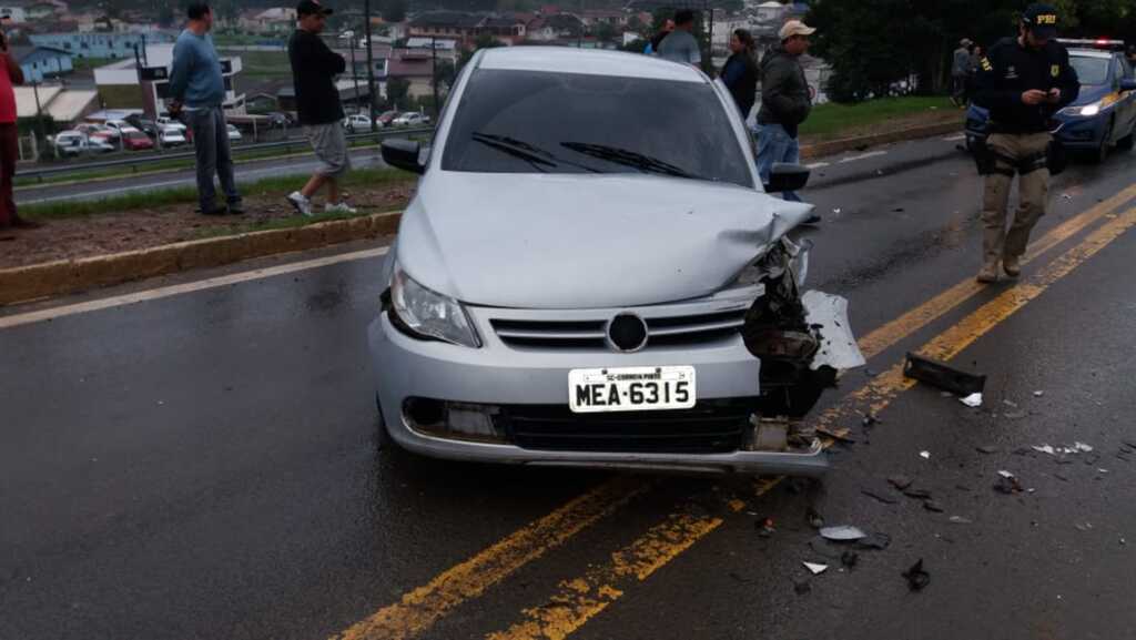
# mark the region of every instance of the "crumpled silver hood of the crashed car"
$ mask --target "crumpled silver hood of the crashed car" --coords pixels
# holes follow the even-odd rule
[[[652,305],[721,289],[811,210],[663,176],[438,172],[402,217],[398,259],[473,305]]]

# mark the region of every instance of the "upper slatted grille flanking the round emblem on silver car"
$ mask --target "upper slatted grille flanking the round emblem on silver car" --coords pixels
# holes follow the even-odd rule
[[[699,344],[737,334],[746,309],[685,316],[644,317],[645,349]],[[583,321],[491,319],[502,342],[531,349],[603,349],[610,318]]]

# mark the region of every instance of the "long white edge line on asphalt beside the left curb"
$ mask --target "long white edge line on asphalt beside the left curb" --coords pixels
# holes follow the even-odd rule
[[[61,307],[52,307],[50,309],[40,309],[36,311],[27,311],[24,314],[0,316],[0,329],[9,329],[12,326],[33,324],[37,322],[73,316],[76,314],[98,311],[101,309],[122,307],[125,305],[134,305],[136,302],[147,302],[149,300],[159,300],[161,298],[169,298],[170,296],[181,296],[182,293],[193,293],[194,291],[203,291],[206,289],[225,286],[227,284],[237,284],[241,282],[249,282],[252,280],[261,280],[265,277],[273,277],[276,275],[284,275],[287,273],[295,273],[299,271],[315,269],[315,268],[326,267],[329,265],[335,265],[339,263],[348,263],[351,260],[365,260],[367,258],[377,258],[378,256],[385,256],[389,250],[390,247],[378,247],[376,249],[352,251],[350,253],[340,253],[337,256],[327,256],[325,258],[314,258],[311,260],[291,263],[287,265],[279,265],[262,269],[253,269],[242,273],[220,275],[217,277],[199,280],[197,282],[186,282],[184,284],[159,286],[157,289],[149,289],[147,291],[124,293],[123,296],[114,296],[110,298],[102,298],[99,300],[89,300],[86,302],[76,302],[74,305],[64,305]]]

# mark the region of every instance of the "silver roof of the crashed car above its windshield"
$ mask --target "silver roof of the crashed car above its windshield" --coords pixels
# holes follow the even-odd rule
[[[573,49],[570,47],[498,47],[484,49],[478,68],[526,72],[573,73],[620,77],[707,82],[707,77],[690,65],[671,63],[652,56]]]

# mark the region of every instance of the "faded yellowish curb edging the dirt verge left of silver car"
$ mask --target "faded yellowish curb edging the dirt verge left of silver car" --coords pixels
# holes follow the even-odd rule
[[[0,269],[0,305],[76,293],[193,268],[393,234],[401,213],[373,214],[296,228],[253,231],[108,256]]]

